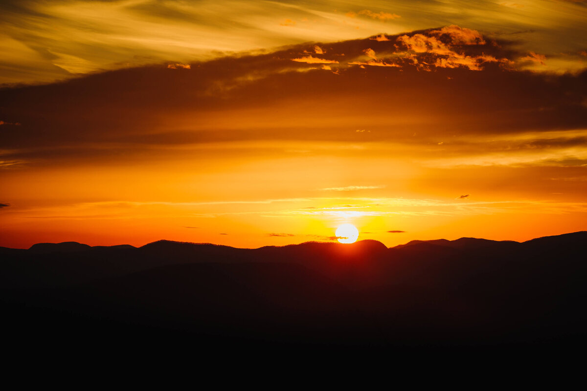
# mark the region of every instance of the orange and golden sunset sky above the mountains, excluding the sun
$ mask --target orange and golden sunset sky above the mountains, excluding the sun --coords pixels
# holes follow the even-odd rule
[[[1,1],[0,246],[587,230],[584,1]]]

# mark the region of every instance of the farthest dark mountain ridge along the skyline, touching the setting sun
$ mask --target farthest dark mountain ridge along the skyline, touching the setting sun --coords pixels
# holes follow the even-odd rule
[[[29,250],[0,249],[0,288],[47,287],[86,283],[171,264],[295,263],[355,289],[386,284],[437,284],[478,273],[498,273],[518,263],[549,264],[556,252],[571,259],[581,253],[587,232],[542,237],[527,242],[460,238],[412,241],[387,248],[376,240],[352,244],[305,242],[238,249],[210,243],[159,240],[141,247],[94,246],[76,242],[39,244]],[[549,257],[546,259],[546,257]],[[544,259],[542,263],[533,259]],[[465,261],[469,260],[469,261]],[[473,260],[473,262],[471,262]],[[518,273],[518,272],[516,272]],[[448,281],[447,280],[447,281]],[[411,282],[409,282],[411,281]]]

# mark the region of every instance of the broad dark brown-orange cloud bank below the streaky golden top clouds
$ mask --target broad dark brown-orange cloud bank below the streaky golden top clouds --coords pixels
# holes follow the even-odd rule
[[[22,124],[18,131],[2,132],[0,166],[137,164],[210,157],[212,150],[239,156],[305,151],[311,156],[323,152],[324,143],[353,156],[377,148],[377,142],[391,143],[394,154],[406,156],[404,145],[413,151],[440,140],[442,149],[453,154],[442,157],[443,164],[448,158],[466,164],[465,149],[476,151],[470,162],[479,162],[480,154],[487,154],[487,161],[506,162],[521,150],[548,148],[551,161],[565,155],[582,159],[581,140],[539,134],[587,128],[586,72],[526,72],[509,62],[519,64],[528,52],[518,52],[507,40],[484,38],[481,45],[448,30],[431,31],[442,29],[389,35],[382,42],[306,43],[225,56],[192,63],[189,72],[172,71],[164,62],[0,89],[1,127]],[[328,56],[294,58],[314,46],[328,47]],[[369,49],[379,60],[365,61]],[[340,53],[345,56],[336,56]],[[335,64],[332,69],[340,74],[308,63]],[[424,67],[434,72],[421,72]],[[496,135],[528,131],[534,139],[491,142]],[[471,141],[475,137],[490,138]],[[278,146],[282,142],[289,146]],[[299,144],[292,147],[291,142]],[[566,150],[573,142],[575,149]],[[427,153],[420,159],[431,164],[438,158]]]

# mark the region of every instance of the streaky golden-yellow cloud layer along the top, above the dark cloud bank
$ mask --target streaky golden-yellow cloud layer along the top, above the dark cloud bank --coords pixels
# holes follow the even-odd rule
[[[169,60],[193,63],[303,42],[355,40],[377,31],[397,33],[389,22],[397,21],[400,15],[404,30],[434,32],[430,35],[451,39],[453,45],[481,42],[473,32],[485,31],[491,36],[523,34],[517,45],[524,53],[585,50],[585,43],[577,39],[587,31],[584,3],[567,2],[564,7],[556,7],[557,2],[552,1],[541,4],[521,12],[487,1],[474,8],[434,1],[425,6],[398,3],[393,9],[382,9],[375,1],[351,2],[345,9],[357,12],[349,13],[356,18],[349,21],[336,11],[340,6],[329,1],[6,0],[0,2],[0,83],[52,82],[71,79],[80,72]],[[459,26],[437,27],[446,21]],[[434,29],[425,30],[431,26]],[[579,59],[567,62],[571,63],[567,67],[551,61],[549,67],[562,72],[580,64]]]

